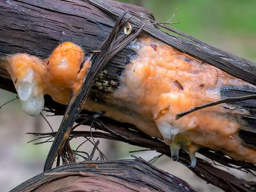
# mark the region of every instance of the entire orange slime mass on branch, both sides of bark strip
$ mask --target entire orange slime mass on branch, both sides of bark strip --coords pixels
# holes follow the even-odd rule
[[[223,86],[255,86],[146,36],[131,42],[128,49],[136,55],[122,73],[118,88],[109,86],[116,82],[96,81],[95,87],[108,96],[104,102],[88,99],[84,109],[106,111],[106,116],[164,139],[173,160],[183,148],[192,167],[200,146],[256,163],[256,151],[244,147],[238,136],[243,129],[241,115],[248,115],[248,111],[220,104],[175,120],[178,113],[220,100]],[[3,65],[12,76],[22,109],[37,115],[44,107],[44,94],[68,103],[83,84],[90,58],[84,61],[81,47],[65,42],[46,60],[22,53],[7,57]]]

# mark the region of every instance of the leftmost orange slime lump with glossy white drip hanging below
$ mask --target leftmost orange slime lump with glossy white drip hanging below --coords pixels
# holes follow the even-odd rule
[[[37,115],[44,108],[44,61],[24,53],[10,56],[7,61],[4,67],[12,77],[22,110],[28,115]]]

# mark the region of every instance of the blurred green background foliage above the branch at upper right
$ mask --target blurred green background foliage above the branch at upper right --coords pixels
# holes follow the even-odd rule
[[[172,17],[173,27],[215,47],[256,61],[254,0],[122,0],[154,13],[159,22]]]

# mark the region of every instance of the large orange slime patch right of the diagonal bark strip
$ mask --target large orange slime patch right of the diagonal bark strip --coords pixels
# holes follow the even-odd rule
[[[152,38],[140,38],[132,42],[130,49],[138,54],[122,74],[114,97],[138,114],[151,117],[143,127],[139,119],[133,119],[132,124],[152,136],[159,137],[160,132],[175,160],[179,148],[189,152],[191,166],[196,164],[195,152],[200,146],[256,163],[256,151],[244,147],[237,133],[243,129],[239,115],[248,115],[248,111],[220,104],[175,120],[178,113],[220,100],[223,86],[252,84]],[[152,122],[155,127],[150,127]]]

